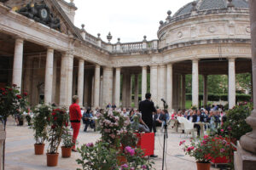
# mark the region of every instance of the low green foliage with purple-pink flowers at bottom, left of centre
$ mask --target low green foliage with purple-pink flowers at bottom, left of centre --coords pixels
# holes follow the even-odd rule
[[[81,159],[78,159],[78,164],[81,164],[83,170],[119,170],[118,167],[118,150],[110,147],[110,144],[102,141],[95,145],[84,144],[79,149]]]

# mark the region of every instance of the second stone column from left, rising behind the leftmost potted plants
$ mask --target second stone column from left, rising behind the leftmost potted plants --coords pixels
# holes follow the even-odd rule
[[[51,104],[52,82],[53,82],[54,49],[48,48],[45,65],[44,78],[44,103]]]

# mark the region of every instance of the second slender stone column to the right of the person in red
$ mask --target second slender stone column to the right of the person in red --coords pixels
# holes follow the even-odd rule
[[[94,107],[100,106],[101,66],[96,65],[94,73]]]

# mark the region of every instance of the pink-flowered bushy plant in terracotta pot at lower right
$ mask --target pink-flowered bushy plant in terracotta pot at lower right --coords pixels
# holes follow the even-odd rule
[[[195,157],[198,170],[210,170],[211,160],[224,156],[223,139],[212,136],[204,136],[203,139],[190,139],[190,144],[186,145],[185,140],[179,145],[183,145],[183,151],[186,155]]]

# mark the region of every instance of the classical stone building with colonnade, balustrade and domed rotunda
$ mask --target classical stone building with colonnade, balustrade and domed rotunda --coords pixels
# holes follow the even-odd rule
[[[80,105],[129,107],[132,99],[138,105],[139,94],[151,92],[156,105],[162,107],[160,99],[166,99],[170,110],[180,109],[185,75],[193,75],[192,105],[198,106],[199,75],[207,104],[207,76],[226,74],[232,108],[236,73],[252,72],[247,0],[188,3],[176,14],[167,12],[157,40],[145,36],[128,43],[112,43],[110,33],[103,42],[100,34],[74,26],[73,0],[0,2],[0,86],[17,84],[30,94],[32,105],[70,105],[78,94]]]

